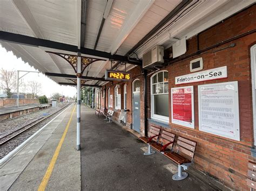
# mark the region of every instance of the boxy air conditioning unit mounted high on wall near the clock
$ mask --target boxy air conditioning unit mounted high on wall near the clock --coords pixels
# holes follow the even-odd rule
[[[149,52],[143,54],[143,68],[153,68],[164,63],[164,47],[155,46]]]

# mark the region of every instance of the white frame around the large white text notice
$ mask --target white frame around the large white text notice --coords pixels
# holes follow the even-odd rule
[[[223,86],[225,84],[233,84],[234,86],[234,91],[235,91],[235,95],[234,95],[234,123],[237,126],[238,129],[238,133],[236,133],[235,137],[231,137],[231,136],[227,136],[227,135],[223,135],[219,132],[216,131],[210,131],[210,130],[203,130],[201,128],[201,87],[210,87],[210,86]],[[211,133],[213,135],[217,135],[220,137],[225,137],[225,138],[229,138],[229,139],[233,139],[233,140],[238,140],[240,141],[240,119],[239,119],[239,94],[238,94],[238,81],[232,81],[232,82],[223,82],[223,83],[209,83],[209,84],[204,84],[204,85],[200,85],[198,86],[198,121],[199,121],[199,131],[203,131],[206,133]]]

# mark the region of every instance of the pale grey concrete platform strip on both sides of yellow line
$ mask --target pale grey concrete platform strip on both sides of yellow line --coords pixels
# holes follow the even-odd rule
[[[37,190],[70,120],[72,104],[0,169],[0,190]],[[76,111],[76,110],[75,110]],[[76,112],[46,190],[80,190],[80,152],[76,151]]]

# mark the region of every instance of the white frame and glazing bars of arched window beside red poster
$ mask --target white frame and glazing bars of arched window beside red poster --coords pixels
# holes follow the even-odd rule
[[[168,73],[168,71],[167,70],[160,70],[160,71],[158,71],[157,73],[154,73],[151,77],[150,77],[150,89],[151,89],[151,92],[150,92],[150,95],[151,95],[151,118],[152,119],[157,119],[157,120],[159,120],[159,121],[163,121],[163,122],[166,122],[166,123],[169,123],[169,121],[170,121],[170,114],[169,114],[169,116],[168,117],[166,117],[166,116],[161,116],[161,115],[157,115],[157,114],[153,114],[153,111],[154,111],[154,99],[153,99],[153,95],[161,95],[161,94],[167,94],[168,95],[168,101],[169,101],[169,87],[168,87],[168,93],[161,93],[161,94],[153,94],[153,77],[155,76],[155,75],[157,75],[158,73],[164,73],[164,72],[167,72]],[[164,75],[163,75],[163,77],[164,77]],[[162,83],[162,82],[160,82],[160,83]],[[164,83],[164,82],[163,82]],[[154,84],[157,84],[157,83],[154,83]],[[169,82],[168,82],[168,86],[169,86]],[[168,106],[167,106],[168,108],[169,108],[169,104],[168,104]]]

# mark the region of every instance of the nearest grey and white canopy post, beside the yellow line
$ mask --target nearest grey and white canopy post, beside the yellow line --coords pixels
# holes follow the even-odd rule
[[[79,53],[78,53],[79,54]],[[77,56],[77,150],[80,150],[81,57]]]

